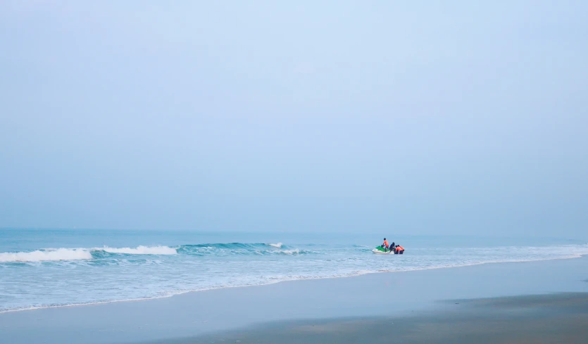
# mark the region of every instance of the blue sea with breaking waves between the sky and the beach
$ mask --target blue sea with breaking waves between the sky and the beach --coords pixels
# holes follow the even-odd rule
[[[0,312],[161,298],[188,291],[580,257],[588,245],[542,238],[0,229]]]

